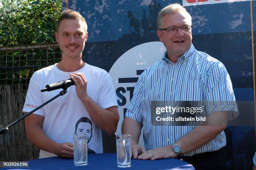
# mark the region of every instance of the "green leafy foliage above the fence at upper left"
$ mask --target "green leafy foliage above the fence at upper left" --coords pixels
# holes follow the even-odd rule
[[[55,42],[61,0],[0,0],[0,46]]]

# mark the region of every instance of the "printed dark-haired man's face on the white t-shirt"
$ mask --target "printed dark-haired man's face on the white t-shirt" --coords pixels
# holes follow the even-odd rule
[[[92,138],[92,121],[88,117],[81,117],[76,123],[76,130],[74,134],[87,135],[87,146]],[[95,153],[94,150],[88,148],[88,153]]]

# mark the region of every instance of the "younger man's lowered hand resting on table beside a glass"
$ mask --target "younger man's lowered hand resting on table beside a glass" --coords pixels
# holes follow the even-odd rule
[[[58,143],[54,154],[64,158],[74,158],[74,145],[72,143]]]

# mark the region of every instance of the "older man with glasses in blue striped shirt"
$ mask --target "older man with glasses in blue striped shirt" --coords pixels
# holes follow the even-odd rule
[[[184,7],[166,6],[157,25],[166,52],[139,77],[123,122],[123,133],[131,134],[133,158],[178,157],[196,170],[224,169],[223,130],[228,114],[238,114],[236,104],[209,107],[205,126],[151,124],[151,101],[236,101],[223,63],[192,45],[192,17]],[[138,145],[142,128],[146,150]]]

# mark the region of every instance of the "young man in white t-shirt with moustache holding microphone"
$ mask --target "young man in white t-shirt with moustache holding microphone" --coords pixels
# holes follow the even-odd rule
[[[41,149],[39,158],[56,155],[72,158],[76,133],[90,134],[88,152],[102,153],[101,129],[112,135],[119,120],[113,83],[108,72],[82,61],[88,37],[82,15],[73,10],[64,11],[56,28],[62,59],[33,74],[23,112],[30,112],[62,90],[41,92],[45,85],[72,78],[75,86],[25,118],[27,138]]]

